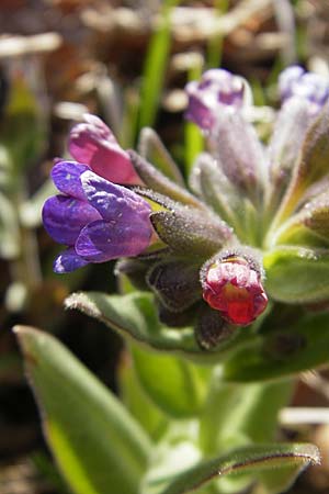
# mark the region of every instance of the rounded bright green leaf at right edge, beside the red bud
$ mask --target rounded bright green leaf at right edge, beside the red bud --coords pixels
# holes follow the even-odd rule
[[[310,304],[329,300],[329,250],[277,247],[263,256],[266,293],[279,302]]]

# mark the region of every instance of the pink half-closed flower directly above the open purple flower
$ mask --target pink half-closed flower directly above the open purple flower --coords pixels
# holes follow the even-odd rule
[[[114,183],[140,184],[128,154],[117,144],[110,128],[95,115],[87,113],[84,123],[70,132],[69,151],[100,177]]]

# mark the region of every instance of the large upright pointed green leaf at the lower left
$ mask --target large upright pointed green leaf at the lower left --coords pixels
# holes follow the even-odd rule
[[[147,435],[117,398],[53,336],[15,332],[54,456],[77,494],[138,494]]]

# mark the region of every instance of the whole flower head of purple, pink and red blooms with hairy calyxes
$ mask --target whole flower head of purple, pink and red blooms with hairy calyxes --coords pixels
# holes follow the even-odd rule
[[[123,150],[86,115],[69,139],[77,161],[55,165],[60,194],[43,212],[49,235],[68,247],[55,271],[124,258],[116,272],[154,292],[163,323],[194,325],[206,349],[256,321],[268,297],[329,300],[329,85],[290,67],[279,86],[268,145],[248,121],[246,80],[213,69],[186,86],[186,117],[209,149],[189,187],[171,158],[157,167]]]

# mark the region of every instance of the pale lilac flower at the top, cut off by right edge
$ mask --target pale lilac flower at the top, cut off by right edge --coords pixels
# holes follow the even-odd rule
[[[292,66],[283,70],[279,78],[279,89],[285,103],[292,98],[305,100],[309,103],[309,111],[318,113],[329,97],[329,81],[318,74],[307,72],[299,66]]]

